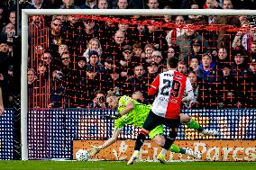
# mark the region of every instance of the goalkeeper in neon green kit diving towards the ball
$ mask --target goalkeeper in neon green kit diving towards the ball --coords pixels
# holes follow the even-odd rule
[[[119,134],[122,133],[123,126],[125,124],[133,125],[138,128],[142,128],[142,125],[147,118],[149,112],[151,111],[151,105],[146,105],[142,103],[138,103],[137,101],[133,100],[131,97],[123,95],[123,96],[116,96],[114,94],[109,94],[106,97],[106,103],[108,103],[109,108],[114,109],[118,112],[118,118],[114,120],[114,131],[113,135],[110,139],[105,140],[105,143],[101,146],[92,146],[92,148],[88,149],[90,156],[96,155],[101,149],[107,148],[108,146],[112,145],[115,140],[117,140]],[[188,122],[188,120],[190,120]],[[197,121],[190,119],[189,116],[182,114],[180,116],[180,121],[187,121],[187,127],[192,128],[195,130],[200,130],[201,132],[204,131],[202,127],[199,126]],[[160,125],[156,127],[154,130],[150,132],[150,138],[156,142],[160,147],[164,145],[165,138],[163,136],[163,126]],[[207,130],[205,130],[207,131]],[[209,132],[209,130],[208,130]],[[208,135],[213,135],[211,133],[206,133]],[[171,145],[169,148],[170,151],[175,153],[186,154],[188,156],[192,156],[195,158],[200,158],[201,155],[199,153],[194,153],[191,149],[184,149],[178,148],[176,145]],[[166,149],[162,149],[158,159],[161,163],[165,163],[165,153]]]

